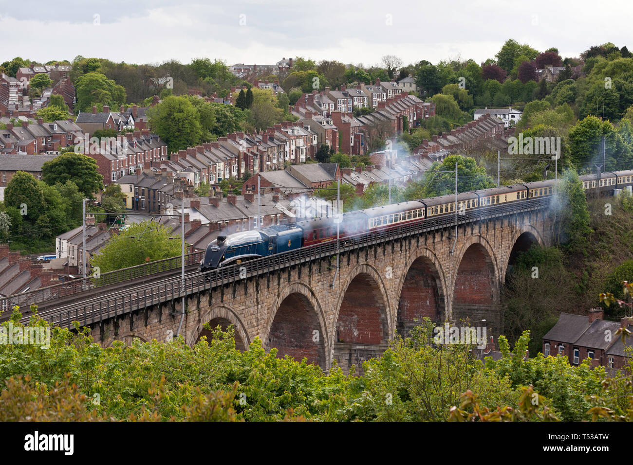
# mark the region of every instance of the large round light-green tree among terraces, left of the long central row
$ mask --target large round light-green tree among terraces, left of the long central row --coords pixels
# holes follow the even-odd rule
[[[149,127],[166,142],[169,153],[199,144],[200,114],[187,97],[169,96],[146,113]]]

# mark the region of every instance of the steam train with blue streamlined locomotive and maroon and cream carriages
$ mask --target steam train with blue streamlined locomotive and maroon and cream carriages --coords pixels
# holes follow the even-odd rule
[[[583,189],[594,189],[599,195],[633,187],[633,170],[605,172],[601,175],[580,176]],[[382,207],[342,213],[338,218],[315,218],[285,225],[272,225],[260,230],[220,235],[213,240],[200,261],[199,271],[239,264],[251,259],[292,251],[320,244],[339,237],[383,232],[407,223],[423,221],[443,214],[465,213],[508,202],[521,202],[537,197],[549,197],[554,192],[554,180],[493,187],[472,192],[442,195],[418,201],[400,202]],[[337,222],[339,224],[337,225]]]

